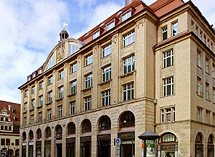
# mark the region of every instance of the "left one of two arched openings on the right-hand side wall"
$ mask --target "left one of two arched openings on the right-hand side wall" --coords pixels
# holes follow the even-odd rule
[[[202,133],[198,133],[196,135],[196,140],[195,140],[195,156],[196,157],[203,157],[204,155],[204,145],[202,143],[203,135]]]

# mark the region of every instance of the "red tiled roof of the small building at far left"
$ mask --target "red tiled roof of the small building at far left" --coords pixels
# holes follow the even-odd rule
[[[11,110],[9,110],[8,105],[11,105]],[[7,110],[8,114],[10,114],[10,119],[11,121],[13,121],[14,125],[19,126],[21,105],[13,102],[0,100],[0,112],[4,108]],[[14,121],[14,118],[17,118],[17,120]]]

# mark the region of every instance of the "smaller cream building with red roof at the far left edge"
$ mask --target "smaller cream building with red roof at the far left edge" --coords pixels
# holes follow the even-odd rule
[[[20,104],[0,100],[0,156],[19,156]]]

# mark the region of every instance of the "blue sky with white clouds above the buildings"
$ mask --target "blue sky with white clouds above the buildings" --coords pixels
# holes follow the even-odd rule
[[[214,0],[193,2],[215,24]],[[21,103],[18,87],[44,63],[63,22],[70,37],[78,38],[123,6],[124,0],[1,0],[0,100]]]

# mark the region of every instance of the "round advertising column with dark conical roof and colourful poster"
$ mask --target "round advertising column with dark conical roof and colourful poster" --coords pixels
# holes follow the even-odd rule
[[[142,157],[157,157],[156,140],[160,136],[151,130],[147,130],[138,138],[142,140]]]

